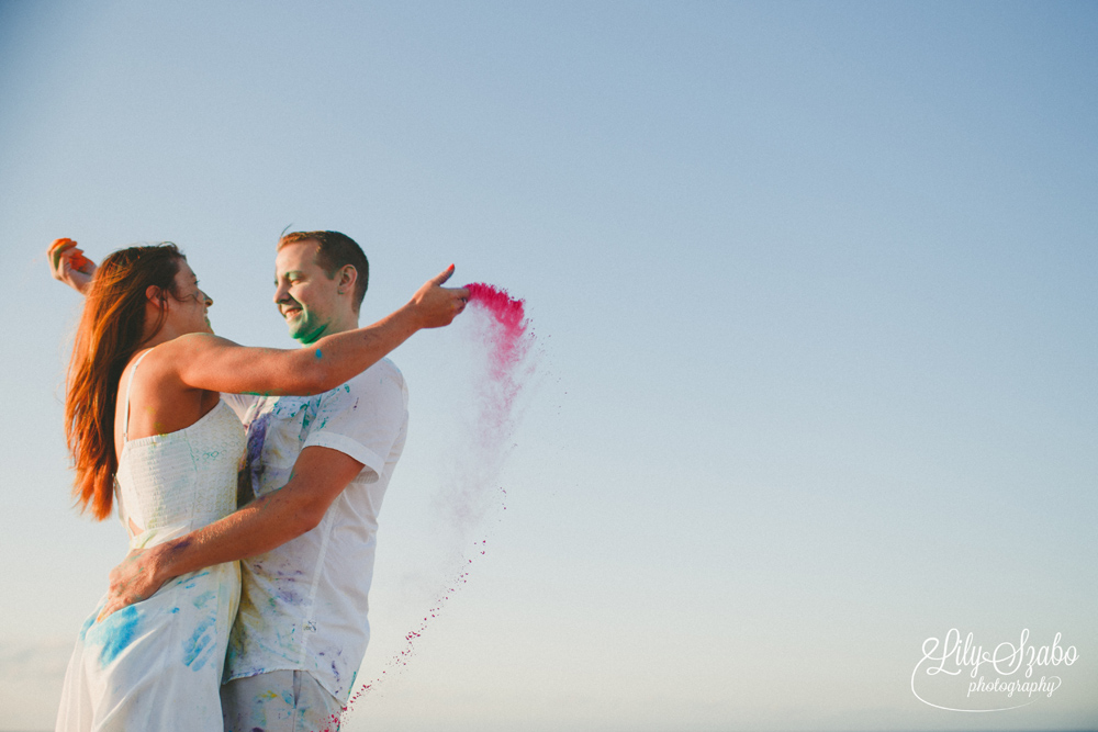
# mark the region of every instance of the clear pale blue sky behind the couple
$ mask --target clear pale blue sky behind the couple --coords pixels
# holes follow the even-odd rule
[[[453,261],[542,352],[492,551],[348,729],[1094,727],[1096,31],[1080,2],[0,3],[0,729],[51,727],[125,551],[69,508],[79,300],[45,247],[173,240],[220,334],[292,347],[288,225],[363,245],[365,319]],[[363,677],[450,571],[460,328],[394,354]],[[1079,661],[1024,709],[933,709],[910,677],[951,628]]]

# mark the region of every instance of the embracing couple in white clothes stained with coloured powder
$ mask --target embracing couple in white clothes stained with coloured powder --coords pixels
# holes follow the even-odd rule
[[[58,732],[337,730],[369,639],[378,513],[407,430],[384,356],[448,325],[450,266],[366,328],[366,256],[337,232],[279,240],[274,302],[304,346],[213,335],[173,245],[54,277],[86,295],[65,399],[75,495],[130,553],[80,631]]]

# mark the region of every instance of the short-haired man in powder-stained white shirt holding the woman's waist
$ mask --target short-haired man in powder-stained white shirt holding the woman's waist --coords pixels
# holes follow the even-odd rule
[[[82,263],[74,247],[58,247],[52,267],[80,289],[69,271]],[[358,327],[369,264],[349,237],[283,236],[276,277],[274,303],[303,346]],[[369,640],[378,511],[407,432],[404,380],[382,360],[312,397],[223,398],[248,429],[256,500],[127,556],[111,573],[104,615],[171,577],[242,560],[222,687],[225,730],[336,730]]]

